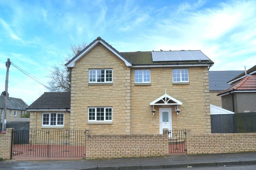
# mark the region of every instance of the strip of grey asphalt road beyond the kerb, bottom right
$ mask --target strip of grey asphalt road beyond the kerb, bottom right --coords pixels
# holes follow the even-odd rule
[[[171,168],[171,169],[154,169],[154,170],[256,170],[256,165],[244,166],[214,166],[200,168]]]

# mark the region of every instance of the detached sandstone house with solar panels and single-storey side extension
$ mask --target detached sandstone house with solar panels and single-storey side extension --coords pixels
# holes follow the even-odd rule
[[[30,128],[210,133],[208,68],[213,64],[200,50],[121,53],[98,37],[66,64],[70,94],[44,93],[27,108]]]

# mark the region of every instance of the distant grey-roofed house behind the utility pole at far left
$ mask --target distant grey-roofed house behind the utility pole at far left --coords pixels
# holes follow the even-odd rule
[[[2,113],[4,111],[4,100],[5,100],[5,95],[4,95],[4,92],[2,92],[0,95],[0,111],[1,111],[0,122],[2,122]],[[27,106],[28,105],[21,98],[9,97],[9,94],[8,94],[6,122],[10,122],[15,118],[20,118],[21,115],[25,113]]]

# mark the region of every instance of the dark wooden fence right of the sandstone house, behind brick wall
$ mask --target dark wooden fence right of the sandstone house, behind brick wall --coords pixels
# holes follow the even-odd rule
[[[211,115],[212,133],[255,133],[256,112]]]

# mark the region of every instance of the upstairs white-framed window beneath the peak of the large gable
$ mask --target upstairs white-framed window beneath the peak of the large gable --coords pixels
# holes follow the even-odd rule
[[[89,83],[112,83],[112,69],[89,70]]]

